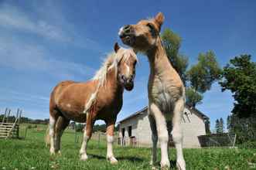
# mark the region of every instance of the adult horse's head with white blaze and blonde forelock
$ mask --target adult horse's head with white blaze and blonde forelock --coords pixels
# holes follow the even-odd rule
[[[126,90],[130,91],[134,86],[137,56],[133,49],[120,48],[118,43],[114,44],[114,52],[118,64],[118,81]]]

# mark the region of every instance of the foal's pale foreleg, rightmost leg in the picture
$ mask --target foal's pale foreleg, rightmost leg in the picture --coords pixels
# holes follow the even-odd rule
[[[186,163],[183,158],[183,131],[181,127],[181,119],[184,110],[184,100],[180,99],[176,102],[173,110],[172,118],[172,139],[175,143],[176,153],[177,153],[177,168],[180,170],[186,169]]]

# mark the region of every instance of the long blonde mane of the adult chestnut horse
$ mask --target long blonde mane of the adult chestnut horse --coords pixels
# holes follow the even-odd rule
[[[114,69],[116,75],[115,77],[117,78],[118,63],[121,61],[121,59],[127,61],[129,57],[134,57],[136,60],[138,60],[135,52],[132,49],[120,48],[118,49],[118,53],[113,52],[108,54],[107,58],[104,60],[104,63],[102,63],[101,69],[97,70],[92,78],[92,80],[98,80],[97,89],[91,94],[90,99],[86,102],[84,114],[87,114],[88,116],[88,110],[90,110],[90,107],[94,104],[100,87],[104,87],[106,84],[108,70]]]

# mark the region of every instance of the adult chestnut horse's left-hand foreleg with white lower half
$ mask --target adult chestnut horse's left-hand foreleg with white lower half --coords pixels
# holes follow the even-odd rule
[[[84,129],[83,143],[80,148],[80,160],[87,160],[87,142],[90,140],[91,134],[93,132],[94,123],[87,118],[86,128]]]

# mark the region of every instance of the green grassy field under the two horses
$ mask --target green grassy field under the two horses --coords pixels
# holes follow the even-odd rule
[[[24,128],[24,126],[23,126]],[[1,169],[152,169],[149,148],[114,147],[118,165],[106,161],[105,143],[90,141],[87,149],[89,159],[81,162],[78,156],[80,142],[74,142],[74,133],[67,131],[62,138],[62,155],[50,156],[44,145],[46,126],[27,131],[26,139],[0,140]],[[21,135],[24,131],[21,131]],[[81,135],[81,134],[80,134]],[[172,169],[176,161],[175,149],[170,149]],[[187,169],[256,169],[256,149],[204,148],[184,149]],[[158,152],[160,158],[160,151]],[[253,166],[255,166],[253,168]],[[159,167],[158,167],[159,168]]]

